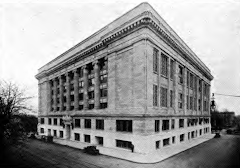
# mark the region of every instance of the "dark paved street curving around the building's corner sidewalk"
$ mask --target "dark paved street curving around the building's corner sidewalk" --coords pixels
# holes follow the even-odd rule
[[[97,168],[221,168],[240,167],[240,136],[222,135],[155,164],[137,164],[104,155],[92,156],[82,150],[29,140],[11,149],[5,167]],[[6,161],[7,162],[7,161]],[[0,165],[0,167],[3,167]]]

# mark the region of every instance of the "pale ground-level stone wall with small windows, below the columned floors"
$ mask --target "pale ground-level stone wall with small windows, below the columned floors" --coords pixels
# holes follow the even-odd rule
[[[171,146],[190,143],[194,139],[209,135],[211,130],[209,117],[204,116],[144,118],[73,116],[68,119],[66,122],[60,116],[39,117],[38,133],[52,135],[56,142],[80,149],[96,145],[103,154],[112,155],[112,150],[127,153],[133,150],[134,153],[147,155],[161,152]]]

